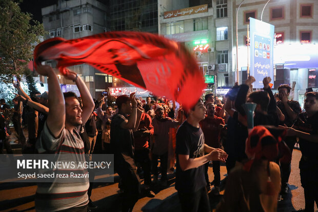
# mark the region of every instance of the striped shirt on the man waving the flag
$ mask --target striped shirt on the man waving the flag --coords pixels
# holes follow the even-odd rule
[[[84,143],[76,129],[73,134],[64,128],[55,138],[45,123],[36,148],[39,153],[54,152],[57,161],[83,160]],[[86,169],[76,170],[78,174],[86,174]],[[35,194],[36,211],[58,211],[88,204],[87,190],[89,181],[82,179],[62,179],[58,182],[38,183]]]

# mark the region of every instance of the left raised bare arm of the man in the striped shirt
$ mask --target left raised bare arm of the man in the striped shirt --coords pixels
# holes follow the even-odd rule
[[[50,66],[37,65],[37,72],[48,76],[49,87],[49,113],[46,120],[47,126],[54,137],[61,134],[65,125],[65,101],[57,75]]]

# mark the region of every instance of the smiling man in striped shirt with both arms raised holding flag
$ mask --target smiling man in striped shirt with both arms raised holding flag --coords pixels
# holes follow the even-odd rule
[[[69,71],[65,77],[76,83],[81,93],[83,107],[79,106],[75,93],[63,93],[58,79],[50,66],[38,65],[37,72],[48,76],[49,113],[44,129],[36,143],[39,153],[61,153],[68,160],[79,162],[79,155],[84,154],[84,143],[79,137],[77,127],[85,124],[90,117],[94,102],[81,78]],[[61,157],[62,158],[62,157]],[[57,159],[58,160],[58,159]],[[85,174],[85,169],[78,170]],[[65,180],[52,183],[38,183],[35,195],[36,211],[87,211],[89,187],[88,179]]]

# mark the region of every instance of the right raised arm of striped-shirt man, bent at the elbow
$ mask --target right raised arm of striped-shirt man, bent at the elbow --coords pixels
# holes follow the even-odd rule
[[[75,73],[73,71],[68,71],[67,74],[65,75],[65,77],[67,79],[75,82],[76,86],[79,90],[79,93],[81,93],[81,98],[82,98],[82,103],[83,103],[82,121],[83,121],[83,124],[85,124],[94,110],[95,103],[92,99],[92,96],[91,96],[88,88],[86,87],[82,78],[78,77],[77,73]]]

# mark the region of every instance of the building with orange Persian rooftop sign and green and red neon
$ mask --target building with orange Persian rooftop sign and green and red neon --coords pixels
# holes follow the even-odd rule
[[[161,0],[158,11],[160,34],[181,42],[192,52],[207,83],[217,82],[217,87],[233,85],[232,20],[227,0]]]

